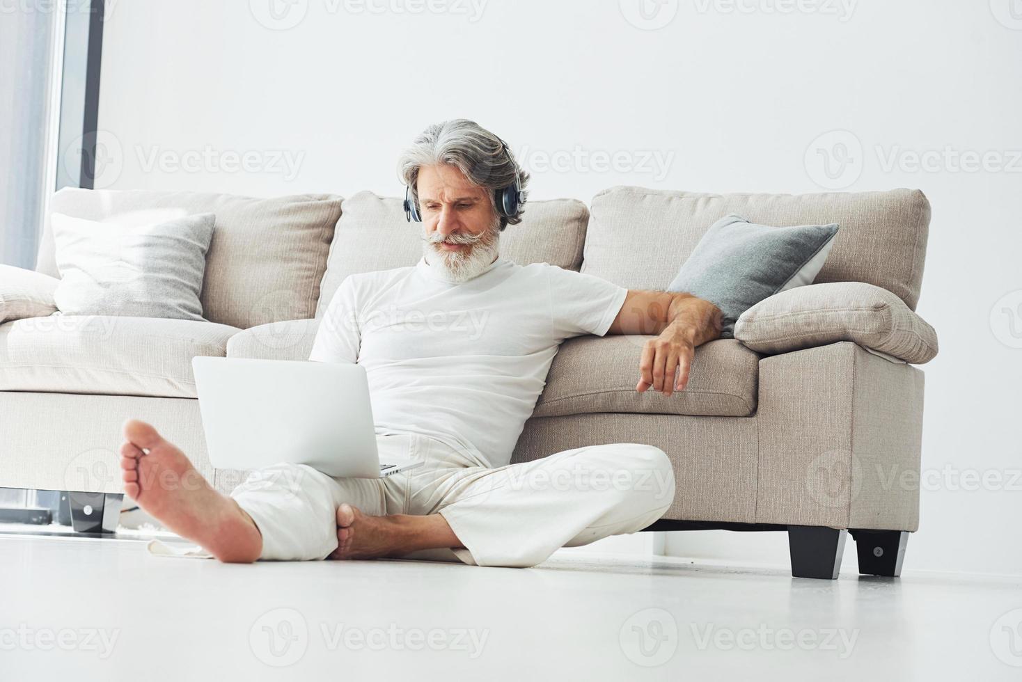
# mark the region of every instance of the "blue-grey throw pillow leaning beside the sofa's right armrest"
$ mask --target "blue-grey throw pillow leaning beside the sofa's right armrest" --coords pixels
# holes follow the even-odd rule
[[[731,338],[738,318],[759,301],[812,284],[837,230],[837,224],[772,228],[728,215],[703,235],[667,290],[715,304],[724,313],[721,335]]]

